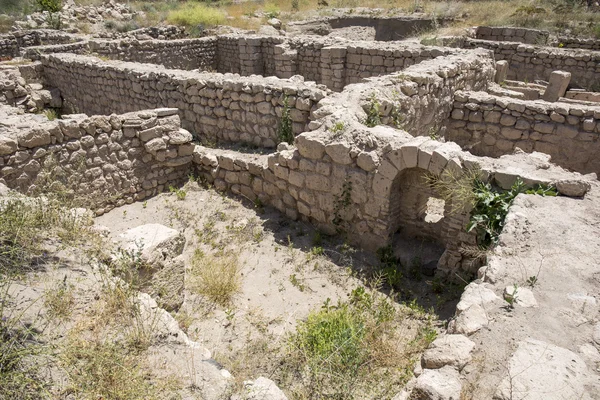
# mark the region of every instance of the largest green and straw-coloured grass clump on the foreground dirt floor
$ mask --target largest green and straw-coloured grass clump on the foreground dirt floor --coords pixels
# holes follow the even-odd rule
[[[430,323],[404,336],[403,309],[389,297],[359,287],[349,300],[329,299],[289,336],[284,368],[301,387],[300,398],[388,398],[411,376],[411,367],[430,342]],[[433,331],[435,332],[435,331]]]

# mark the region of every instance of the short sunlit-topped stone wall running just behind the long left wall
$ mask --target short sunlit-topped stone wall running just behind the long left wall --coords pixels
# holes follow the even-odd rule
[[[173,69],[216,71],[214,37],[183,40],[90,41],[93,54],[113,60],[164,65]]]

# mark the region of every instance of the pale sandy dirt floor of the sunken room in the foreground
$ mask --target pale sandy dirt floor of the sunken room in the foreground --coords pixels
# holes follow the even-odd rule
[[[173,327],[168,317],[165,326],[171,326],[165,332],[155,323],[148,332],[146,326],[137,326],[135,318],[119,319],[125,306],[109,305],[105,300],[114,278],[94,261],[97,253],[117,254],[121,234],[150,223],[176,229],[186,239],[183,304],[171,312],[171,320],[178,326]],[[421,273],[424,263],[439,258],[436,244],[397,237],[393,249],[403,267],[392,287],[385,283],[389,271],[382,270],[379,257],[346,244],[343,234],[328,237],[274,209],[225,196],[193,181],[179,191],[115,208],[95,218],[93,224],[94,231],[106,238],[90,239],[76,248],[60,241],[47,243],[40,268],[11,285],[12,313],[21,315],[27,326],[34,326],[53,349],[71,349],[66,353],[75,359],[81,356],[78,346],[82,343],[106,343],[106,338],[120,341],[123,337],[142,341],[143,351],[123,362],[139,367],[144,382],[175,395],[164,398],[220,399],[243,381],[259,376],[273,379],[289,396],[281,366],[290,335],[310,312],[324,304],[347,301],[354,289],[372,292],[377,286],[382,294],[395,292],[395,307],[404,315],[395,334],[404,345],[412,346],[425,327],[443,330],[461,292],[458,286],[444,287]],[[194,286],[193,260],[199,252],[236,256],[241,287],[226,305],[211,302]],[[142,300],[150,313],[146,321],[164,317],[166,312],[149,296],[142,295]],[[66,308],[60,318],[51,313],[57,306]],[[117,320],[121,325],[114,323]],[[183,332],[193,341],[191,347]],[[88,346],[84,346],[86,351]],[[408,370],[420,357],[410,351],[402,360],[403,365],[409,363],[403,367]],[[53,350],[54,361],[43,369],[52,382],[54,398],[65,398],[73,385],[73,370],[65,367],[63,353]],[[126,381],[123,379],[123,384]],[[297,397],[292,394],[290,398]]]

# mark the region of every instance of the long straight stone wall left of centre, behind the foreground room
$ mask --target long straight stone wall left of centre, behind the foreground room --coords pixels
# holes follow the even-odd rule
[[[72,54],[42,58],[48,86],[77,112],[110,114],[157,107],[180,110],[182,125],[202,140],[275,147],[287,98],[293,132],[307,130],[314,105],[327,95],[299,80],[240,77],[151,64],[103,62]]]

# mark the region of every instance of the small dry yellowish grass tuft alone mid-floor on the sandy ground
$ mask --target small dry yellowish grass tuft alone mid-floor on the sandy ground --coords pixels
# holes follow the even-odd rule
[[[211,255],[197,250],[192,258],[191,287],[211,302],[228,306],[241,287],[237,255],[225,252]]]

